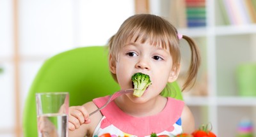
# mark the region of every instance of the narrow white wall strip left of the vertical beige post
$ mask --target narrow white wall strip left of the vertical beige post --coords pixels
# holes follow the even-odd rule
[[[0,131],[14,125],[12,1],[0,1]],[[1,136],[1,134],[0,134]]]

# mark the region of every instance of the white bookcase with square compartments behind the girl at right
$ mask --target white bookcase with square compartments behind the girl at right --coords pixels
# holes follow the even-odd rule
[[[237,65],[256,61],[256,24],[225,25],[220,1],[205,1],[205,27],[178,28],[180,34],[193,38],[202,52],[202,72],[207,73],[207,86],[202,88],[207,88],[209,93],[209,96],[188,94],[183,97],[199,124],[211,122],[217,136],[236,136],[232,131],[241,117],[249,115],[255,119],[256,96],[237,96],[235,77]],[[170,4],[161,4],[164,5]],[[187,50],[183,49],[182,53],[187,54]],[[204,84],[203,78],[198,77],[198,80]],[[195,92],[204,90],[200,88],[195,88]]]

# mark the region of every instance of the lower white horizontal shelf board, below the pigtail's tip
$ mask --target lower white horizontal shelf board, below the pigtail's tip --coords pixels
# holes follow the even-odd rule
[[[184,101],[189,106],[256,106],[256,97],[193,97],[186,96]]]

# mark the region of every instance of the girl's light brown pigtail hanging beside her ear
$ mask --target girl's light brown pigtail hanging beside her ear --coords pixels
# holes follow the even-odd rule
[[[195,85],[196,75],[198,73],[198,68],[200,66],[201,59],[200,59],[200,50],[195,44],[195,41],[193,41],[188,36],[184,36],[184,35],[182,36],[182,38],[188,42],[191,50],[191,62],[188,69],[188,77],[184,85],[182,86],[182,91],[183,91],[184,89],[189,87],[189,85],[191,85],[191,87]]]

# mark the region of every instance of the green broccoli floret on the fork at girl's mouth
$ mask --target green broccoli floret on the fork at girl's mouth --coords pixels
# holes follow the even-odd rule
[[[143,73],[135,73],[132,75],[132,82],[134,85],[133,95],[137,97],[141,97],[143,92],[151,84],[150,77]]]

